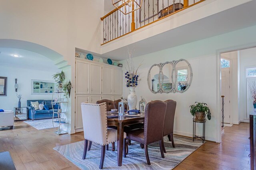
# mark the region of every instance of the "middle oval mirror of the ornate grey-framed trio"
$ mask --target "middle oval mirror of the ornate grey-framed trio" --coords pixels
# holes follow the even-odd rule
[[[173,73],[174,69],[172,63],[164,63],[162,66],[162,72],[160,74],[160,81],[164,93],[170,93],[174,89]]]

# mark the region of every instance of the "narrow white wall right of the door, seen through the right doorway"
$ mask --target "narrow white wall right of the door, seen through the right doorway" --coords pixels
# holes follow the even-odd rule
[[[230,60],[230,120],[238,125],[240,114],[238,113],[238,51],[222,53],[221,57]]]

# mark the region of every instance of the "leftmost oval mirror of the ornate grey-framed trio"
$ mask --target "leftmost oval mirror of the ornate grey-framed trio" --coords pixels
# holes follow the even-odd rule
[[[160,70],[159,64],[154,64],[148,71],[148,88],[153,93],[158,93],[161,89]]]

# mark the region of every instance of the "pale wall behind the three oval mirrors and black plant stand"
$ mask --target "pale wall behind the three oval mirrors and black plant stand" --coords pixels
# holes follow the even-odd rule
[[[144,65],[139,70],[142,74],[142,82],[136,88],[137,96],[143,96],[147,101],[173,99],[177,102],[177,111],[174,123],[174,133],[192,137],[192,115],[189,112],[189,106],[194,102],[206,102],[211,109],[212,119],[206,122],[206,139],[218,141],[217,139],[217,116],[221,114],[217,102],[220,100],[217,84],[220,78],[217,59],[218,52],[232,51],[234,49],[256,45],[256,27],[248,27],[233,31],[230,33],[218,35],[208,39],[195,41],[185,45],[180,45],[170,49],[142,55],[134,58],[134,63]],[[153,94],[148,89],[147,74],[152,64],[164,63],[166,61],[187,59],[192,66],[193,79],[190,88],[180,93]],[[218,61],[220,62],[220,61]],[[124,64],[125,70],[125,62]],[[123,86],[123,96],[128,96],[128,90]],[[220,103],[218,102],[219,106]],[[197,127],[198,130],[201,130]],[[202,132],[202,130],[200,131]],[[219,131],[220,132],[220,131]],[[218,132],[218,133],[219,133]]]

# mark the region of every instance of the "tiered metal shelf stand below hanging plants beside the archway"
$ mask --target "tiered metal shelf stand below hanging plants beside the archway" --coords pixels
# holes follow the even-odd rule
[[[54,108],[54,106],[56,104],[58,104],[58,110],[57,112],[54,111],[53,109],[53,114],[52,114],[52,125],[54,127],[54,123],[58,123],[58,126],[54,127],[54,129],[56,130],[54,133],[56,133],[57,135],[64,135],[67,134],[68,132],[65,131],[63,129],[64,125],[67,125],[67,129],[69,126],[68,120],[67,118],[64,117],[65,113],[67,113],[68,110],[68,102],[64,102],[64,98],[62,98],[62,94],[64,94],[65,92],[53,92],[52,93],[52,108]],[[54,114],[58,115],[58,118],[54,118]]]

